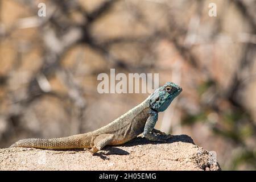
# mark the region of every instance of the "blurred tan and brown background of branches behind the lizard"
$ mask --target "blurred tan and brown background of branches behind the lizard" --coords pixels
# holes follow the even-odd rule
[[[0,147],[92,131],[143,101],[97,92],[115,68],[182,86],[156,128],[191,136],[222,169],[255,170],[255,12],[255,0],[1,0]]]

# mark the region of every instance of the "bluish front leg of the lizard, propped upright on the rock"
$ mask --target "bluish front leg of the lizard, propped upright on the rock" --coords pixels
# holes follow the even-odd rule
[[[155,123],[158,121],[158,112],[154,110],[150,110],[150,116],[147,118],[147,121],[144,126],[144,137],[156,142],[166,142],[168,138],[171,138],[171,135],[164,135],[164,133],[160,132],[159,130],[155,130]],[[153,134],[152,132],[156,131],[158,134]]]

